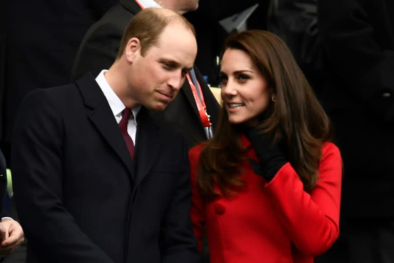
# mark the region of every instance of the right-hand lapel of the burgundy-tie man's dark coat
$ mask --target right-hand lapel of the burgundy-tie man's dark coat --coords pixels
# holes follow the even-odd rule
[[[137,117],[137,134],[135,144],[135,185],[139,185],[151,170],[159,156],[161,140],[160,127],[150,117],[148,110],[141,107]]]

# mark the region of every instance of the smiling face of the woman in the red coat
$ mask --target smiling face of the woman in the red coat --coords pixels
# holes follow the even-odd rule
[[[271,100],[271,91],[250,55],[239,49],[227,49],[220,75],[223,106],[230,123],[257,125]]]

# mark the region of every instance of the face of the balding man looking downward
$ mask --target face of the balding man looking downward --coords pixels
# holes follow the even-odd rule
[[[141,48],[135,52],[128,76],[129,95],[149,109],[164,110],[178,94],[196,53],[197,43],[190,29],[170,23],[144,57]]]

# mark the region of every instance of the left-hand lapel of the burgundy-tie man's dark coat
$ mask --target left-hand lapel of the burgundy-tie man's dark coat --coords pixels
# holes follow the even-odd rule
[[[81,90],[85,105],[92,109],[88,118],[103,136],[103,139],[108,142],[116,155],[119,156],[130,176],[133,177],[133,162],[123,140],[121,130],[116,123],[100,86],[92,74],[87,74],[82,79],[77,80],[76,84]]]

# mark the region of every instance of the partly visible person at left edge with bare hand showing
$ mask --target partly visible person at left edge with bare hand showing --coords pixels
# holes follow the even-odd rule
[[[24,241],[21,225],[10,217],[4,217],[4,198],[7,191],[7,165],[0,149],[0,258],[13,253]],[[1,260],[1,259],[0,259]]]

